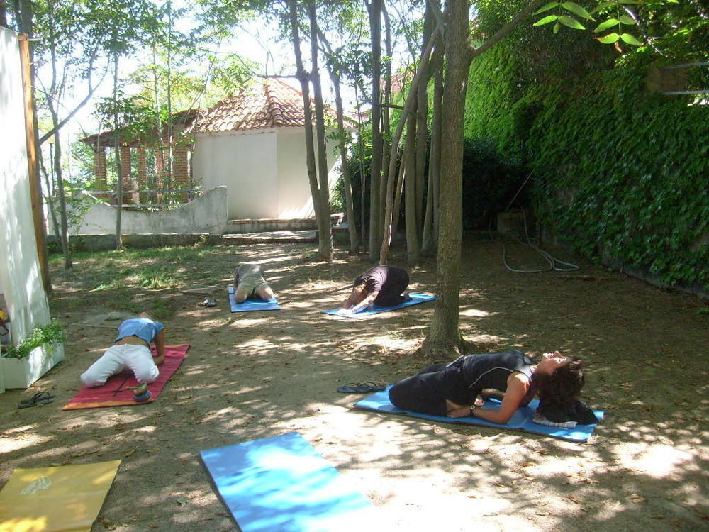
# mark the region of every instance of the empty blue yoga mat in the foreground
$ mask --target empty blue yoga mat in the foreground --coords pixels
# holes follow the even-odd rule
[[[242,532],[361,531],[376,522],[369,499],[296,432],[200,454]]]

